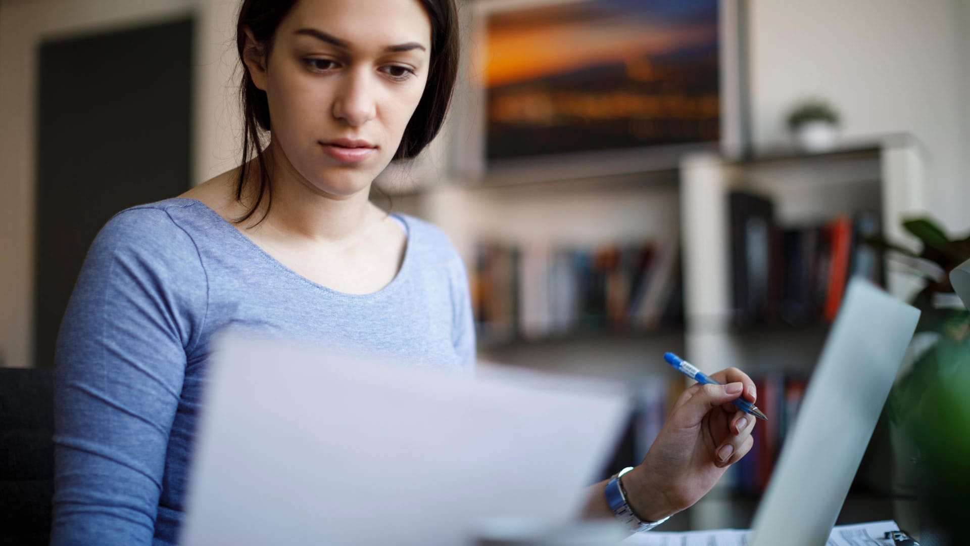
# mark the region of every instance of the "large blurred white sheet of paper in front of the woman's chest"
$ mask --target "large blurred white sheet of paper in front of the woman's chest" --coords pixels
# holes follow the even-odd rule
[[[565,520],[630,407],[621,389],[577,380],[541,388],[256,339],[218,347],[186,545],[465,545],[482,519]]]

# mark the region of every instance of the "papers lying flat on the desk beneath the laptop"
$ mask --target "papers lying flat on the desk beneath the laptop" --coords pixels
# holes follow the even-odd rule
[[[886,532],[899,530],[893,521],[835,526],[825,546],[893,546]],[[691,530],[687,532],[641,532],[624,540],[634,546],[747,546],[752,531],[744,529]],[[820,545],[821,546],[821,545]]]

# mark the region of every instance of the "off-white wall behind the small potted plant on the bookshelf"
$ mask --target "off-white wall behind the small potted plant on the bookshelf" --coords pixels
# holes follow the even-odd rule
[[[797,99],[818,94],[847,138],[914,134],[928,151],[926,203],[952,231],[970,227],[970,2],[752,0],[756,147],[786,138]]]

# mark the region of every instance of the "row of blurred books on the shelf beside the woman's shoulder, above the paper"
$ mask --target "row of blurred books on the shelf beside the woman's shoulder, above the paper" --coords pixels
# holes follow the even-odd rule
[[[469,271],[486,341],[574,332],[647,331],[682,324],[676,240],[597,247],[481,242]]]

